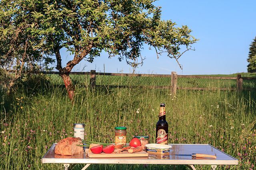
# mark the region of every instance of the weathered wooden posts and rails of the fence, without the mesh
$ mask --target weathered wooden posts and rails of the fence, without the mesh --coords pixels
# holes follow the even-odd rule
[[[44,74],[59,74],[59,72],[43,72]],[[148,88],[162,88],[170,89],[172,94],[176,94],[177,90],[252,90],[252,88],[243,89],[243,80],[256,80],[252,77],[242,77],[241,74],[237,74],[236,77],[220,77],[220,76],[190,76],[190,75],[178,75],[176,72],[172,74],[124,74],[124,73],[102,73],[91,70],[90,72],[70,72],[70,74],[90,75],[90,86],[95,88],[96,75],[99,76],[136,76],[136,77],[170,77],[169,86],[146,86]],[[236,80],[235,88],[205,88],[205,87],[181,87],[178,86],[178,78],[196,78],[196,79],[221,79],[221,80]]]

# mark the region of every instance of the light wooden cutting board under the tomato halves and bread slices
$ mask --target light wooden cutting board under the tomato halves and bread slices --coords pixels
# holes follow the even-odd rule
[[[89,149],[85,149],[86,154],[90,158],[120,158],[120,157],[144,157],[148,156],[148,153],[142,150],[141,152],[135,152],[135,153],[128,153],[128,151],[124,150],[121,153],[100,153],[100,154],[94,154],[92,152],[88,152]]]

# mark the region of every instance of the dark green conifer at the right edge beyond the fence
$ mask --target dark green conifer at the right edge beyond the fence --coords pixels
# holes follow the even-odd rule
[[[247,66],[248,72],[252,72],[256,70],[256,37],[254,41],[250,44],[249,55],[247,61],[249,62]]]

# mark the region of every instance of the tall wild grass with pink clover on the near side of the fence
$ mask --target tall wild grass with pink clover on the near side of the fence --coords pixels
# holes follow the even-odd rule
[[[57,81],[57,82],[56,82]],[[114,127],[127,127],[127,141],[135,135],[155,141],[160,103],[166,104],[169,143],[210,144],[237,158],[237,166],[218,170],[253,170],[256,165],[255,91],[177,90],[108,87],[91,90],[88,78],[76,83],[72,104],[66,89],[48,76],[30,77],[16,90],[0,96],[0,169],[58,170],[62,164],[40,159],[60,139],[74,134],[74,123],[85,124],[88,141],[114,143]],[[62,82],[61,82],[62,83]],[[81,169],[76,165],[74,170]],[[188,169],[183,165],[91,164],[88,169]],[[208,170],[208,165],[195,165]]]

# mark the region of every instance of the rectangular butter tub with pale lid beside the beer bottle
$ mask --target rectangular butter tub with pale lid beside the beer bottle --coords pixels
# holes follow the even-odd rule
[[[145,145],[147,147],[148,154],[169,154],[171,145],[162,145],[162,144],[147,144]]]

